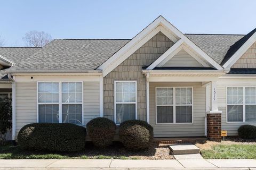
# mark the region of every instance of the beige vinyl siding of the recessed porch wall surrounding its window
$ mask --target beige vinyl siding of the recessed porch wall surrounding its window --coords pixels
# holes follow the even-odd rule
[[[193,124],[156,124],[156,87],[193,87]],[[205,135],[205,87],[201,83],[149,83],[149,124],[154,137],[202,137]]]

